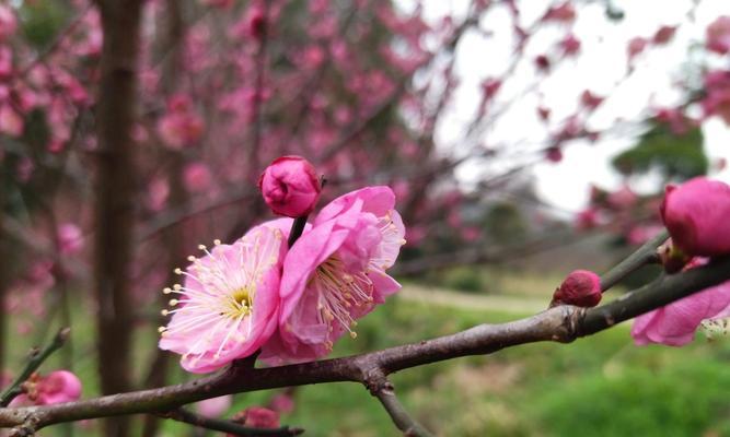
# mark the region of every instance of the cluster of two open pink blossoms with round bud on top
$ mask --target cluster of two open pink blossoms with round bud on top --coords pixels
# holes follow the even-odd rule
[[[285,175],[287,182],[276,182],[279,190],[290,192],[288,182],[308,180],[300,164]],[[265,198],[270,173],[263,177]],[[289,203],[306,214],[318,186],[300,194]],[[232,245],[200,246],[205,256],[176,270],[184,283],[164,290],[176,298],[162,311],[173,317],[160,328],[160,347],[181,354],[182,366],[193,373],[259,350],[262,361],[274,365],[328,354],[343,334],[356,338],[357,319],[401,288],[385,273],[405,243],[394,208],[389,187],[367,187],[332,201],[290,248],[292,218],[263,223]]]

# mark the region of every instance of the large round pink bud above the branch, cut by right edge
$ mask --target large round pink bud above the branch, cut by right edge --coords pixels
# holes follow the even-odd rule
[[[660,206],[674,245],[690,256],[730,253],[730,187],[704,177],[668,186]]]

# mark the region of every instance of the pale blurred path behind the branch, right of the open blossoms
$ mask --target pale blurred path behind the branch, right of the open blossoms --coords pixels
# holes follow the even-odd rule
[[[404,285],[398,296],[406,300],[429,305],[451,306],[460,309],[497,310],[529,315],[547,309],[549,296],[495,296],[456,292],[449,288],[427,287],[416,284]]]

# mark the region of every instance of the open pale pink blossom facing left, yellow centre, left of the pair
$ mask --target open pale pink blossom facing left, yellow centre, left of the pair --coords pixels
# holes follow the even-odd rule
[[[200,248],[205,257],[176,270],[184,285],[164,290],[177,298],[162,311],[173,317],[160,328],[160,347],[183,355],[183,368],[193,373],[246,357],[274,333],[287,245],[280,231],[258,226],[232,245]]]

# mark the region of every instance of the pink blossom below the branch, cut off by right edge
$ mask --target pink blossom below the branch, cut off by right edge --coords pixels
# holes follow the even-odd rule
[[[688,268],[705,263],[695,259]],[[682,346],[690,343],[703,320],[728,316],[730,281],[673,302],[662,308],[637,317],[631,336],[638,345],[660,343]]]

